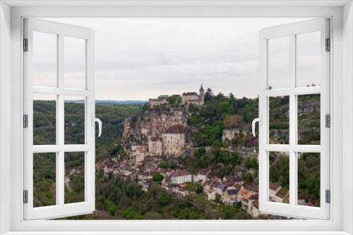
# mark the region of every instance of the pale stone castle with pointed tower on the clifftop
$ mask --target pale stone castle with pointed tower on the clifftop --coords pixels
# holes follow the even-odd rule
[[[181,96],[180,95],[173,95],[177,99],[181,98],[181,103],[193,103],[196,106],[202,106],[205,102],[205,90],[202,87],[200,88],[200,93],[197,94],[196,92],[184,92]],[[149,99],[148,103],[150,103],[150,108],[155,108],[156,106],[160,106],[164,103],[167,103],[168,95],[158,96],[157,99]]]

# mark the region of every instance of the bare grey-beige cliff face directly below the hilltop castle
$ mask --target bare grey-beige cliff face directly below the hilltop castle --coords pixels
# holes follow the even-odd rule
[[[191,114],[187,106],[184,108],[150,108],[142,110],[124,122],[124,139],[138,139],[142,144],[147,144],[148,136],[162,138],[162,133],[173,125],[182,125],[187,130],[187,120]],[[186,134],[186,142],[190,143],[191,135]]]

